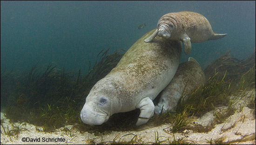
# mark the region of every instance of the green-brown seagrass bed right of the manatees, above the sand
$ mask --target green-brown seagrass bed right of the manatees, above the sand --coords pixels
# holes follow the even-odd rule
[[[247,90],[249,91],[253,88],[255,90],[255,50],[249,58],[242,61],[239,60],[239,63],[238,59],[230,57],[228,52],[205,69],[205,73],[209,76],[205,86],[198,87],[189,95],[186,101],[180,100],[175,111],[159,114],[149,121],[154,121],[157,125],[162,123],[171,124],[166,129],[166,132],[181,132],[185,129],[191,129],[187,126],[191,122],[190,116],[201,117],[205,112],[216,110],[217,107],[228,106],[222,112],[215,112],[214,123],[222,123],[229,115],[235,112],[235,106],[242,99],[247,98],[246,96],[248,95],[250,95],[250,103],[240,104],[240,110],[249,105],[255,109],[255,91],[250,94],[247,92]],[[235,72],[236,70],[229,65],[236,66],[236,69],[241,71],[236,74],[235,78],[233,78],[235,73],[231,74],[230,72]],[[217,68],[213,69],[214,67]],[[209,68],[212,69],[210,70]],[[214,71],[214,74],[212,75],[212,72],[209,73],[207,71]],[[234,97],[232,98],[231,96]],[[207,132],[210,129],[211,127],[198,126],[193,130]]]

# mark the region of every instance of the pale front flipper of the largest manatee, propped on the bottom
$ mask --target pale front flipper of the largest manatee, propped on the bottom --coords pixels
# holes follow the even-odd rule
[[[155,106],[149,97],[142,99],[136,108],[140,108],[141,110],[136,126],[147,123],[148,120],[154,115]]]

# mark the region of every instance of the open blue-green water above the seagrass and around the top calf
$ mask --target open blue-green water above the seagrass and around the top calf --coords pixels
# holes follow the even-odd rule
[[[220,40],[192,43],[202,68],[227,50],[244,59],[255,47],[255,1],[5,1],[0,2],[0,70],[26,71],[49,63],[88,72],[102,49],[128,50],[155,29],[162,15],[201,13]],[[141,24],[146,24],[138,29]]]

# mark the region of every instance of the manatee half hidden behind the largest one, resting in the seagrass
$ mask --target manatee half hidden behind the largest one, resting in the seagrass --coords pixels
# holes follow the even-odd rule
[[[182,96],[182,99],[186,100],[191,92],[205,82],[204,71],[196,60],[190,57],[189,61],[179,65],[170,84],[159,94],[160,99],[155,106],[155,113],[175,110]]]

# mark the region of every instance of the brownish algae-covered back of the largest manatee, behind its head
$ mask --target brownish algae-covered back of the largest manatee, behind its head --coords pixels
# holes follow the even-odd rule
[[[159,77],[159,74],[168,72],[169,64],[179,62],[181,57],[181,42],[166,41],[161,37],[156,37],[152,43],[145,43],[144,40],[155,31],[149,31],[137,40],[121,58],[117,66],[109,72],[106,77],[112,75],[122,75],[129,78],[122,82],[128,84],[141,83],[150,84]],[[148,80],[148,78],[151,78]],[[134,81],[130,83],[128,81]],[[130,86],[134,88],[135,86]]]

